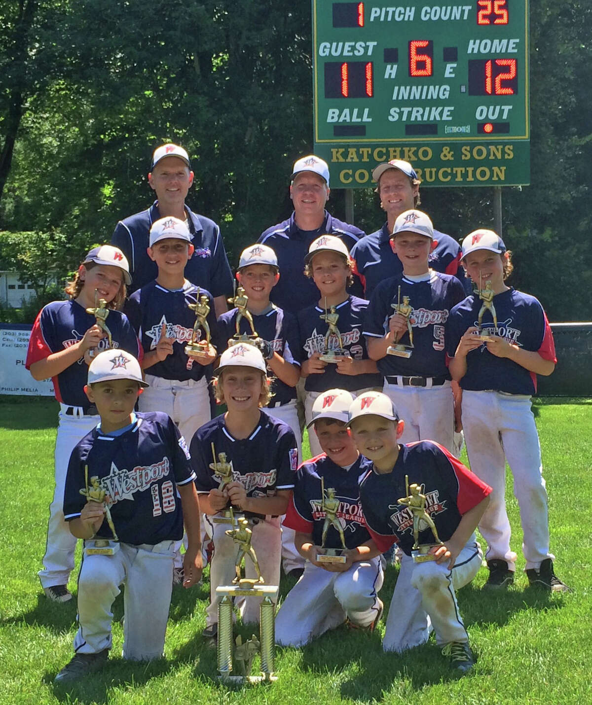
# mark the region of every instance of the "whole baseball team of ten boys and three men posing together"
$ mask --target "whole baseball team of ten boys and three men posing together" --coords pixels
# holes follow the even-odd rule
[[[459,245],[435,230],[411,164],[378,164],[373,178],[387,221],[366,235],[327,212],[325,161],[298,159],[294,212],[243,250],[234,285],[217,223],[186,205],[188,153],[162,145],[148,174],[157,200],[117,223],[67,300],[38,314],[26,366],[52,377],[59,402],[39,572],[48,599],[72,599],[85,542],[74,656],[56,683],[107,663],[122,586],[123,658],[161,657],[174,585],[198,583],[207,563],[203,638],[216,644],[216,587],[238,570],[229,514],[258,558],[246,579],[277,585],[283,568],[297,581],[277,611],[278,644],[344,623],[373,631],[397,562],[385,651],[433,631],[466,673],[476,654],[456,592],[483,565],[477,528],[484,589],[514,582],[506,462],[528,584],[569,590],[554,572],[531,411],[536,376],[557,362],[545,312],[507,285],[497,233]],[[260,601],[235,599],[243,622],[258,622]]]

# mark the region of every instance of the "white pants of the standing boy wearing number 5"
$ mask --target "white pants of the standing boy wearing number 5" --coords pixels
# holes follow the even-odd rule
[[[401,443],[435,441],[452,453],[454,403],[449,381],[436,387],[404,387],[385,380],[382,391],[405,422]]]

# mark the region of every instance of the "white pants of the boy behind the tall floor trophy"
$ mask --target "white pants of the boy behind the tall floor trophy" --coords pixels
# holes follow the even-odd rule
[[[205,515],[205,527],[214,541],[214,553],[210,563],[210,604],[207,606],[205,615],[205,623],[209,627],[218,623],[218,603],[222,598],[216,594],[216,588],[220,585],[231,585],[236,577],[235,560],[238,546],[231,537],[224,533],[231,528],[236,529],[236,525],[231,527],[230,524],[218,524],[212,522],[212,517]],[[282,551],[279,517],[267,517],[255,525],[249,523],[249,528],[253,532],[250,545],[255,549],[265,584],[279,585],[279,559]],[[244,566],[245,577],[257,577],[257,572],[249,556],[245,556]],[[244,623],[259,623],[261,601],[261,597],[240,596],[235,598],[234,604],[238,607],[238,612]]]

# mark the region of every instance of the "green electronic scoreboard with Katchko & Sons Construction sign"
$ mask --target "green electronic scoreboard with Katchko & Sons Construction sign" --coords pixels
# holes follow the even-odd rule
[[[313,0],[315,154],[334,187],[406,159],[424,186],[527,184],[528,0]]]

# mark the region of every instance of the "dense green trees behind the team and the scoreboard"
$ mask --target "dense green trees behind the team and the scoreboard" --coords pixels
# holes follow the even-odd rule
[[[1,228],[63,233],[80,259],[150,203],[165,140],[193,157],[189,202],[220,223],[233,262],[289,214],[291,162],[312,150],[308,2],[6,0],[0,20]],[[503,195],[515,283],[554,319],[590,315],[591,21],[583,0],[531,2],[531,185]],[[456,238],[493,225],[488,189],[422,199]],[[343,202],[332,193],[337,216]],[[356,192],[356,224],[382,220]]]

